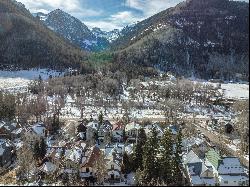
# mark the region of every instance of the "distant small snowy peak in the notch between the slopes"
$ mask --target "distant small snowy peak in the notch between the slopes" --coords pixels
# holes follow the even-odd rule
[[[116,40],[119,36],[120,36],[120,31],[119,29],[114,29],[112,31],[103,31],[100,28],[93,28],[92,29],[92,33],[96,36],[96,37],[100,37],[100,38],[106,38],[110,43],[112,43],[114,40]]]

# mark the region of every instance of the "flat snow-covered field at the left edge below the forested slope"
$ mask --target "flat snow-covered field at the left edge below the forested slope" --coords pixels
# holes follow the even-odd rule
[[[2,71],[0,70],[0,90],[8,90],[11,92],[25,91],[28,84],[35,79],[38,79],[39,75],[43,80],[49,78],[49,76],[55,77],[62,73],[57,71],[50,71],[47,69],[31,69],[20,71]]]

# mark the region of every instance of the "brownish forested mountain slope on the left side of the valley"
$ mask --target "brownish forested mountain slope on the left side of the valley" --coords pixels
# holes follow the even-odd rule
[[[49,30],[15,1],[0,1],[0,64],[79,67],[86,53]]]

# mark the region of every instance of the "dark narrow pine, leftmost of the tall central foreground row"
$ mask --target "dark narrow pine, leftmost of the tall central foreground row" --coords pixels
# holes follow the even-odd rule
[[[132,166],[133,166],[133,171],[136,171],[137,169],[143,170],[143,146],[145,145],[147,141],[147,135],[145,133],[145,130],[141,128],[138,133],[137,137],[137,144],[134,147],[134,151],[132,154]]]

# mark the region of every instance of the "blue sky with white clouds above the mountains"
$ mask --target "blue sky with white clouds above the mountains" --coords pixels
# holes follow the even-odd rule
[[[88,27],[122,29],[184,0],[17,0],[31,13],[57,8],[75,16]],[[249,0],[244,0],[249,2]]]

